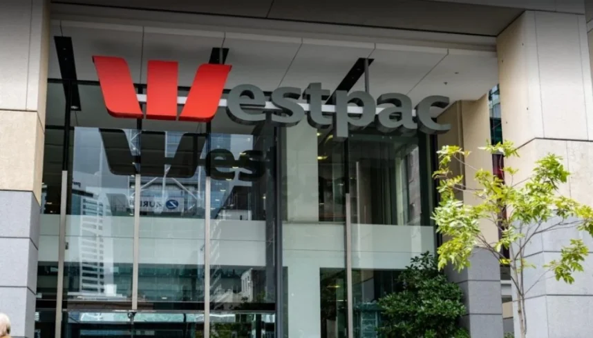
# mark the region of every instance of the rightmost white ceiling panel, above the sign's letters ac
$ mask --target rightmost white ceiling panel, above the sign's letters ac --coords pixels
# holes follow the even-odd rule
[[[494,52],[449,50],[449,54],[409,93],[417,103],[429,95],[458,100],[477,100],[498,83]]]

